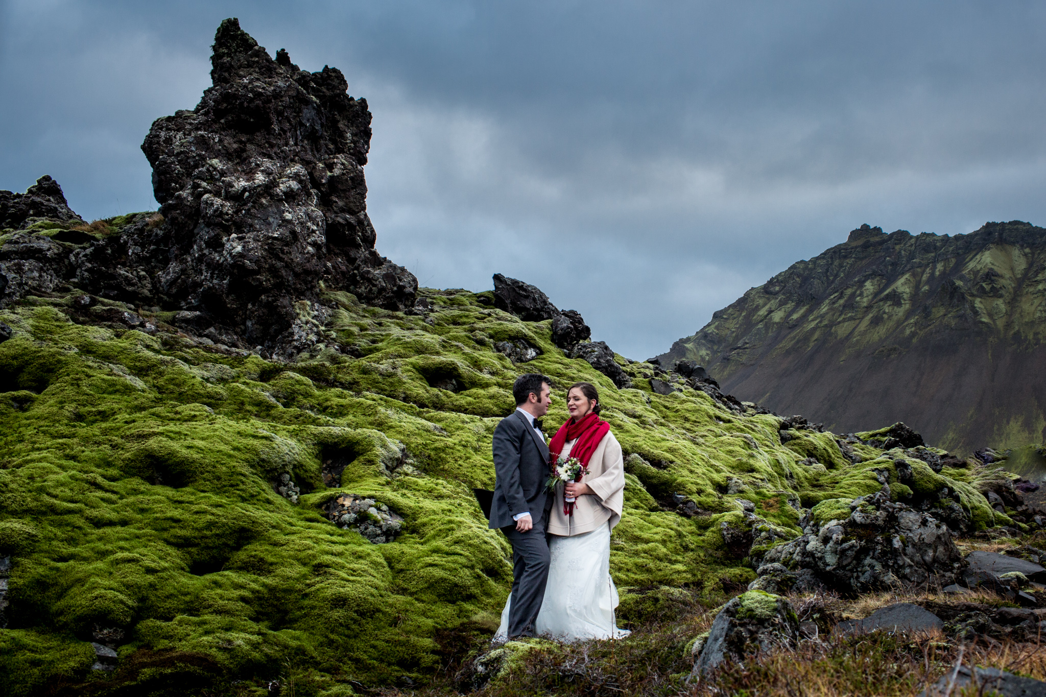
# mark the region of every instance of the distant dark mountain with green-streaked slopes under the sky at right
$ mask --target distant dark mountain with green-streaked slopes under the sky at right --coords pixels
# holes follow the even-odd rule
[[[676,342],[725,390],[836,431],[902,420],[971,452],[1046,441],[1046,230],[849,239]]]

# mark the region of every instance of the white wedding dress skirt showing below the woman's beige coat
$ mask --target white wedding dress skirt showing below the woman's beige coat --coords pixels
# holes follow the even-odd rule
[[[615,622],[618,598],[610,578],[610,524],[582,535],[552,535],[548,549],[548,585],[535,631],[564,642],[631,634]],[[507,638],[511,603],[509,594],[495,642]]]

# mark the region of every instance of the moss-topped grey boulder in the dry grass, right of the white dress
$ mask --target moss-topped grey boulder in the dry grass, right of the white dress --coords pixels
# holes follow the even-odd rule
[[[700,679],[724,660],[744,660],[755,653],[793,647],[799,641],[799,618],[780,596],[748,590],[732,599],[715,615],[700,647],[690,679]]]

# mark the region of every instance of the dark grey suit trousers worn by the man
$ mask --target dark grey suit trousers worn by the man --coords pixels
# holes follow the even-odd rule
[[[548,541],[545,521],[521,533],[515,526],[501,529],[513,545],[513,602],[508,608],[508,637],[535,636],[535,623],[548,583]]]

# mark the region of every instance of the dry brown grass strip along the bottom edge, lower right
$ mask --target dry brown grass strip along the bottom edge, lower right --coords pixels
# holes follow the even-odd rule
[[[688,683],[691,660],[681,647],[697,633],[637,632],[621,642],[587,642],[533,650],[510,673],[476,694],[481,697],[576,695],[578,697],[704,697],[790,695],[802,697],[914,697],[934,684],[961,655],[964,666],[1046,679],[1046,650],[1038,644],[977,641],[958,646],[939,633],[907,637],[885,632],[803,641],[792,650],[728,663]],[[961,654],[960,654],[961,652]],[[384,690],[385,697],[470,694],[444,681],[427,688]],[[972,693],[975,694],[975,693]],[[953,697],[958,697],[958,691]]]

